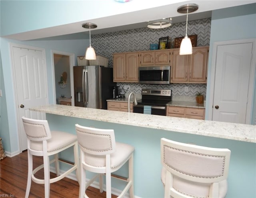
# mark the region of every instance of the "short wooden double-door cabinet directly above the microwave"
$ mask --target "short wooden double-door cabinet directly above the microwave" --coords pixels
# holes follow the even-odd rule
[[[140,65],[170,65],[170,49],[142,51],[140,53]]]

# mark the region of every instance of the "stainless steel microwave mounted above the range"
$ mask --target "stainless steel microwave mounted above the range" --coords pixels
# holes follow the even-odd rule
[[[140,84],[170,84],[170,66],[139,67]]]

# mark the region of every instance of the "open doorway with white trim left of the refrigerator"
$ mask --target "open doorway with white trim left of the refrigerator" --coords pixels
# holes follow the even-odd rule
[[[74,106],[74,54],[52,51],[55,104]]]

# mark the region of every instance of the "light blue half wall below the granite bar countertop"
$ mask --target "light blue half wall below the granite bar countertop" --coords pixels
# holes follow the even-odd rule
[[[228,174],[228,193],[226,198],[255,198],[256,197],[256,144],[243,141],[206,137],[186,133],[177,133],[145,127],[135,127],[123,124],[112,124],[81,118],[47,114],[50,128],[76,134],[75,124],[103,129],[114,129],[116,141],[135,147],[134,151],[134,191],[141,198],[162,198],[164,188],[160,180],[161,158],[160,139],[165,137],[183,143],[228,148],[231,151]],[[73,160],[67,153],[62,158]],[[124,170],[119,174],[127,176]],[[120,188],[119,184],[113,184]]]

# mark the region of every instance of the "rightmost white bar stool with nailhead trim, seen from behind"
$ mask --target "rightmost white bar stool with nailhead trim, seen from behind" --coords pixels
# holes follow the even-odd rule
[[[228,190],[229,149],[161,139],[164,198],[224,198]]]

